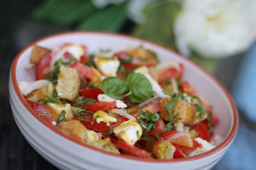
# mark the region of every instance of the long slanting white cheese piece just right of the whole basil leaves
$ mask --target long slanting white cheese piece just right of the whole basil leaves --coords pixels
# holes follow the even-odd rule
[[[145,75],[145,77],[149,80],[152,90],[159,95],[159,97],[170,97],[163,93],[162,87],[158,84],[158,82],[149,74],[149,69],[145,66],[139,67],[134,70],[135,73],[141,73]]]

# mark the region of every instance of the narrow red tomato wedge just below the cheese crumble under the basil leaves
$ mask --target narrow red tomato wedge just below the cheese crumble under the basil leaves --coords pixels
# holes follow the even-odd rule
[[[98,110],[102,110],[104,108],[109,108],[110,110],[116,109],[117,106],[115,105],[115,101],[113,102],[103,102],[103,101],[98,101],[94,103],[89,103],[89,104],[84,104],[83,108],[86,107],[87,111],[92,111],[92,112],[97,112]],[[107,109],[103,110],[107,111]]]

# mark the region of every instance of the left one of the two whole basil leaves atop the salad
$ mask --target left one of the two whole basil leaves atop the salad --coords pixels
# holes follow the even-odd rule
[[[123,99],[123,94],[127,91],[125,80],[117,77],[106,77],[102,80],[99,88],[109,97]]]

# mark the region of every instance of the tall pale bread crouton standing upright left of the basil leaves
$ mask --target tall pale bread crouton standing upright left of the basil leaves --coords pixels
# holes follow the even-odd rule
[[[60,68],[56,90],[61,100],[73,101],[79,95],[80,78],[76,69]]]

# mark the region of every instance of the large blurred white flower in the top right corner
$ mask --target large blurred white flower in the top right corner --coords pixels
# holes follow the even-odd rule
[[[187,0],[174,25],[179,52],[224,58],[243,52],[256,35],[255,0]]]

